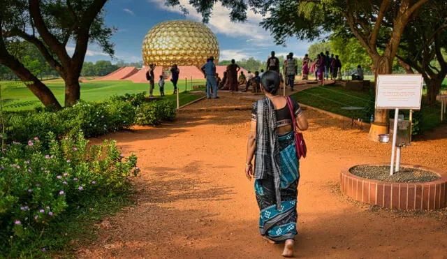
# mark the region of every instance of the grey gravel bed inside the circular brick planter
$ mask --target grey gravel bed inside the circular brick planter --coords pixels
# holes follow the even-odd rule
[[[434,172],[402,167],[400,168],[400,172],[395,172],[394,175],[390,175],[389,165],[357,165],[349,169],[349,172],[358,177],[383,182],[432,182],[441,178]]]

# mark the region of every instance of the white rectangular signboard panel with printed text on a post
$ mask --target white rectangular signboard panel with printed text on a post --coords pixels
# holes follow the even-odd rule
[[[422,75],[377,75],[376,109],[420,110]]]

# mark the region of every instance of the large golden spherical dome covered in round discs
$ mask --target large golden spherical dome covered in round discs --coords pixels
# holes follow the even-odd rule
[[[171,20],[156,24],[142,41],[145,66],[156,64],[168,68],[196,66],[201,68],[207,58],[219,62],[219,43],[210,28],[191,20]]]

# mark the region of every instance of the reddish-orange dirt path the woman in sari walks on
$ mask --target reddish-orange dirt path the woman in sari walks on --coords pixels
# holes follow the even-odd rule
[[[244,176],[249,111],[179,114],[157,128],[105,136],[138,155],[135,207],[108,219],[80,258],[281,258],[258,235],[253,182]],[[447,224],[356,205],[337,192],[340,168],[386,162],[390,146],[367,131],[307,110],[308,157],[301,161],[299,258],[443,258]],[[102,140],[102,139],[101,139]],[[94,140],[99,141],[99,140]],[[416,142],[402,162],[447,170],[447,139]]]

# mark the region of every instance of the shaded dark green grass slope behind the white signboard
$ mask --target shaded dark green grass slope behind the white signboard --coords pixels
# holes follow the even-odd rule
[[[350,91],[338,86],[312,87],[305,91],[300,91],[293,94],[299,103],[309,105],[321,110],[327,110],[335,114],[341,114],[346,117],[351,117],[352,113],[347,110],[342,110],[345,106],[364,107],[365,110],[355,112],[354,117],[363,119],[369,122],[370,114],[374,110],[374,103],[370,101],[368,93]],[[423,96],[424,103],[425,96]],[[415,111],[413,117],[420,120],[420,130],[430,131],[441,124],[439,117],[441,110],[440,103],[434,106],[422,105],[420,111]],[[402,110],[406,119],[409,117],[409,110]],[[390,117],[393,117],[393,110],[390,111]]]

